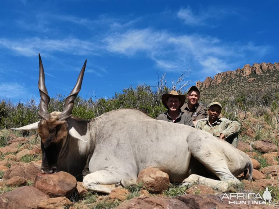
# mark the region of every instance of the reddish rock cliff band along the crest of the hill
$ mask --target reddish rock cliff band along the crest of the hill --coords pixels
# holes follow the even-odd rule
[[[228,83],[229,80],[237,78],[237,77],[247,77],[248,82],[252,82],[253,79],[248,78],[249,75],[256,74],[256,75],[262,75],[265,71],[279,71],[279,62],[275,62],[274,64],[271,63],[265,63],[262,64],[255,63],[252,66],[249,64],[246,64],[243,66],[243,68],[238,68],[235,71],[226,71],[223,73],[218,73],[217,75],[214,75],[213,79],[211,77],[205,78],[203,82],[196,82],[196,86],[203,90],[207,89],[211,84],[220,84]]]

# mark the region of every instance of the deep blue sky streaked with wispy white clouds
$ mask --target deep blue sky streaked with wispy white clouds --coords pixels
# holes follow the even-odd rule
[[[38,53],[50,97],[111,98],[191,69],[185,80],[279,62],[278,1],[1,1],[0,98],[39,100]]]

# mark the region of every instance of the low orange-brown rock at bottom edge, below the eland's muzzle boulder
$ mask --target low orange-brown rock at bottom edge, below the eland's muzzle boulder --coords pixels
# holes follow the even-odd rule
[[[41,200],[38,204],[38,209],[65,209],[73,205],[74,203],[66,197],[55,197]]]

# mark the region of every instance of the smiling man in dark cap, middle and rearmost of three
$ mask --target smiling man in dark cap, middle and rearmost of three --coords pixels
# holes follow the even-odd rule
[[[200,90],[196,86],[192,86],[187,91],[188,102],[181,107],[181,111],[187,113],[193,123],[195,124],[197,120],[206,118],[206,108],[198,103],[200,99]]]

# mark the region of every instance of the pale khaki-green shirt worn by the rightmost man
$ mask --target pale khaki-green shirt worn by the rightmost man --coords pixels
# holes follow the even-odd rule
[[[208,117],[198,120],[195,124],[196,129],[204,130],[219,138],[224,134],[226,138],[236,134],[240,129],[240,123],[227,118],[218,118],[214,123],[210,124]]]

